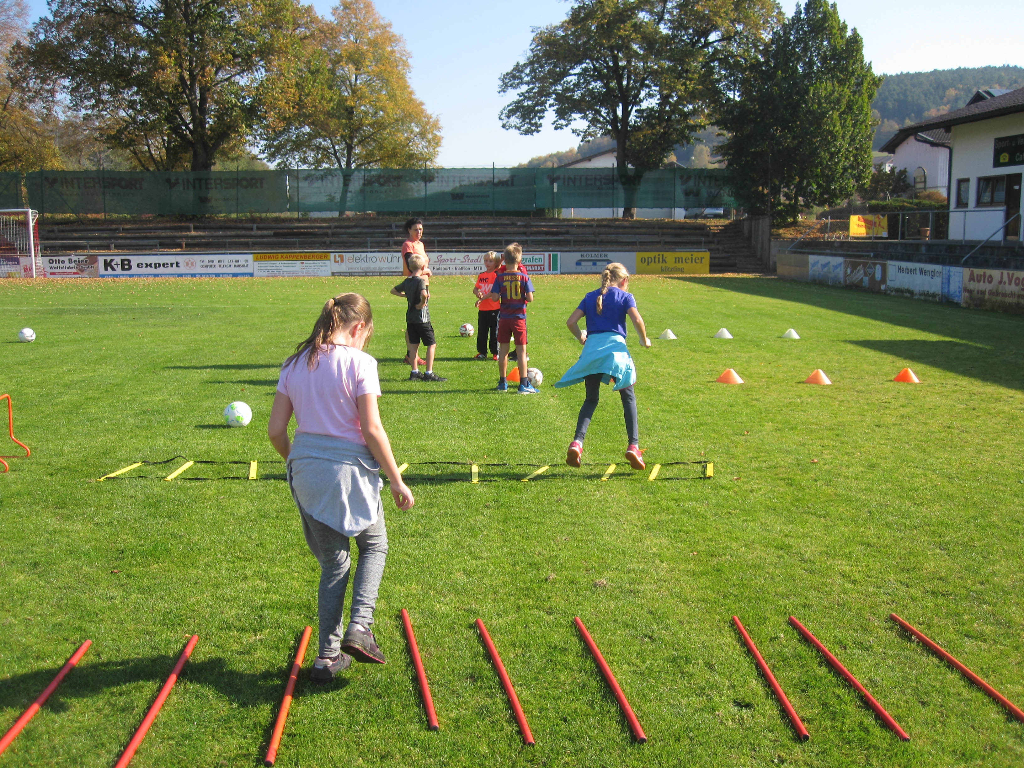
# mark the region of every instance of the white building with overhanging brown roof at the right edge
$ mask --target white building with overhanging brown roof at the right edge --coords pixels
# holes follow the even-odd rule
[[[901,128],[886,147],[938,130],[950,134],[949,239],[1019,241],[1024,88],[976,94],[961,110]]]

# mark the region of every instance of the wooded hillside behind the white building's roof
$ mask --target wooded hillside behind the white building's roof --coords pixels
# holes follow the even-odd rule
[[[958,110],[979,89],[1024,87],[1024,67],[961,67],[885,77],[871,104],[880,121],[876,150],[904,125]]]

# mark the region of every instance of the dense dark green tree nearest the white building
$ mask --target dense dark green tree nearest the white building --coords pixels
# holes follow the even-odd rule
[[[836,5],[798,6],[720,105],[719,147],[733,196],[754,214],[792,222],[802,206],[831,206],[871,172],[871,99],[882,78]]]

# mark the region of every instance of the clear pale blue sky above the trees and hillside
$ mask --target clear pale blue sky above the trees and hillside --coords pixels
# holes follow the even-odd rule
[[[336,0],[315,0],[328,14]],[[783,2],[787,13],[795,2]],[[35,16],[45,2],[30,0]],[[377,0],[377,8],[412,53],[412,83],[440,118],[439,164],[499,167],[567,150],[569,131],[546,128],[534,136],[502,129],[498,113],[508,100],[498,79],[529,47],[530,28],[554,24],[568,9],[559,0]],[[840,14],[864,39],[877,73],[954,67],[1024,67],[1024,0],[839,0]],[[35,17],[34,16],[34,17]]]

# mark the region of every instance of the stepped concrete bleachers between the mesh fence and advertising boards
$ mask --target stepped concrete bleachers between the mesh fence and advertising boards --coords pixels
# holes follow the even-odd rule
[[[712,271],[758,271],[738,222],[622,219],[425,218],[427,252],[500,251],[517,242],[525,251],[711,252]],[[397,251],[402,221],[340,219],[142,220],[43,222],[44,254],[253,251]]]

